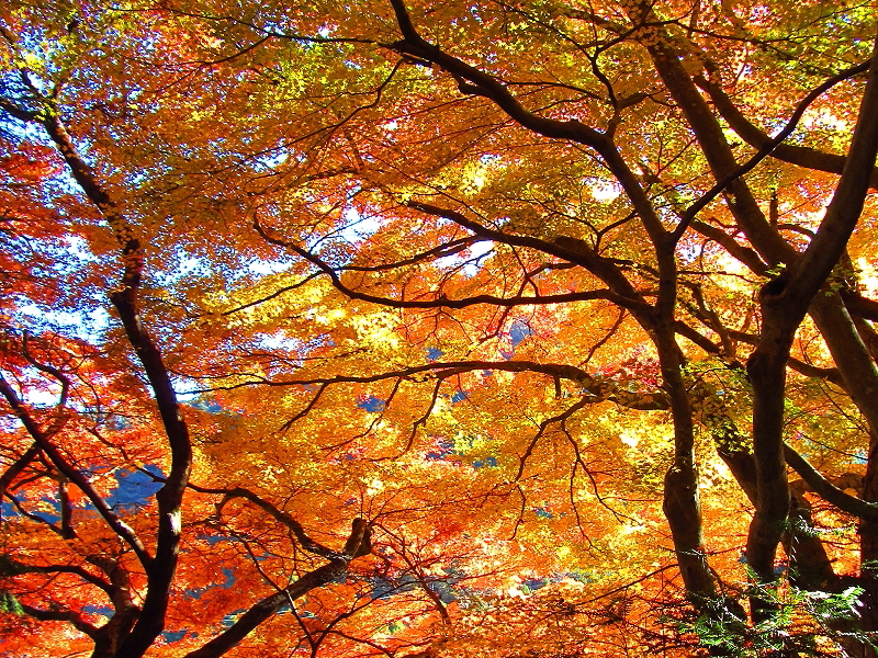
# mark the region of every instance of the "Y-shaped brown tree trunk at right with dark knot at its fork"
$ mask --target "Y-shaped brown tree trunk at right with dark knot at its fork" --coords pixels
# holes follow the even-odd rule
[[[716,179],[730,175],[738,163],[719,122],[683,67],[673,39],[657,30],[657,44],[649,46],[656,70],[686,115]],[[758,208],[740,179],[729,184],[729,207],[750,242],[768,264],[789,263],[781,276],[761,294],[763,332],[747,363],[753,384],[753,447],[756,470],[756,513],[747,538],[747,559],[763,582],[774,580],[774,555],[784,534],[789,491],[783,449],[785,371],[796,329],[811,299],[844,252],[856,225],[875,166],[878,134],[878,89],[871,66],[860,118],[851,152],[826,217],[804,254],[799,256]],[[762,146],[762,145],[761,145]],[[757,263],[754,263],[757,264]],[[754,600],[764,616],[767,602]]]

